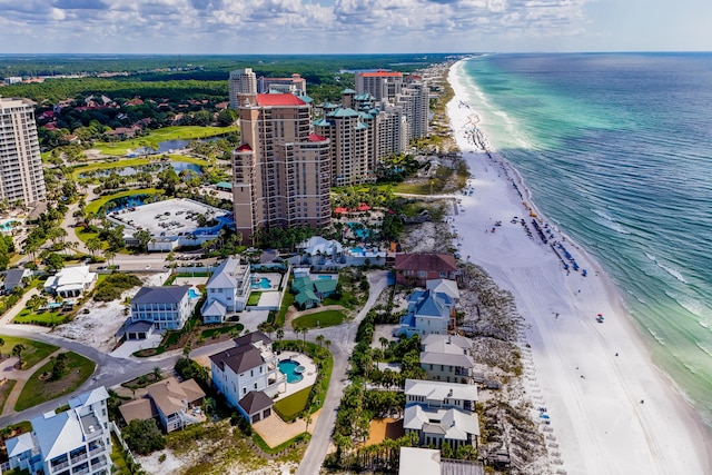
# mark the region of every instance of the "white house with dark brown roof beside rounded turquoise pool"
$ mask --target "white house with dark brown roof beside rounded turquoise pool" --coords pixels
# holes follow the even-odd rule
[[[277,355],[273,353],[271,344],[264,333],[253,331],[235,338],[234,348],[210,356],[212,384],[229,404],[248,418],[254,415],[250,413],[254,409],[253,402],[246,402],[247,409],[239,404],[248,393],[261,392],[271,398],[287,390],[286,376],[277,366]],[[258,403],[264,400],[261,396],[251,397],[259,398]]]

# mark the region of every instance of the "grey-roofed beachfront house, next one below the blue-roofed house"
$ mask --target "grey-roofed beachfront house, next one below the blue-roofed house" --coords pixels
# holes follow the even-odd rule
[[[421,342],[421,368],[432,380],[469,384],[475,362],[469,339],[457,335],[427,335]]]

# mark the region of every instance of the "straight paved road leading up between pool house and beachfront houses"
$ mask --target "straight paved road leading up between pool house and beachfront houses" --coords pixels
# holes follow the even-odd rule
[[[307,339],[313,342],[316,340],[319,334],[324,335],[326,339],[332,340],[329,349],[334,356],[334,370],[332,372],[332,380],[329,382],[329,388],[324,399],[322,413],[314,426],[312,442],[299,464],[297,475],[318,474],[324,464],[324,458],[326,458],[326,453],[332,439],[332,432],[336,424],[336,409],[344,395],[344,388],[348,384],[346,370],[348,369],[348,358],[356,346],[355,339],[358,324],[364,319],[370,307],[374,306],[383,289],[390,284],[389,276],[390,273],[387,270],[379,270],[368,276],[370,284],[368,300],[354,320],[337,327],[324,328],[318,333],[313,330],[307,334]]]

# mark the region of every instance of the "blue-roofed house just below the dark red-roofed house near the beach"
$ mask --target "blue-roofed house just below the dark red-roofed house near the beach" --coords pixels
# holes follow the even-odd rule
[[[413,335],[446,335],[454,327],[455,301],[435,290],[416,290],[408,295],[408,313],[400,318],[400,333]]]

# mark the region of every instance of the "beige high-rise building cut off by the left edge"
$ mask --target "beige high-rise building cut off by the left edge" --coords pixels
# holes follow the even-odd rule
[[[22,99],[0,97],[0,199],[47,199],[34,110]]]

